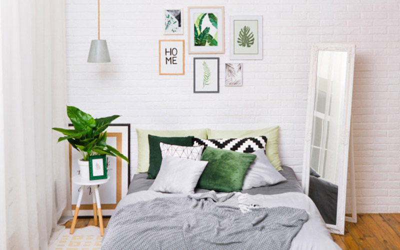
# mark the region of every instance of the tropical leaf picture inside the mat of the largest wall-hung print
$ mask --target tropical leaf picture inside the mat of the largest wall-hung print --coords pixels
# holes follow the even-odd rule
[[[194,46],[217,46],[217,34],[218,18],[213,13],[200,13],[194,22]]]

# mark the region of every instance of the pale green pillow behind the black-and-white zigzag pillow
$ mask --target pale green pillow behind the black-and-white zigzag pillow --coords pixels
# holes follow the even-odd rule
[[[265,155],[276,170],[282,170],[278,154],[279,126],[255,130],[211,130],[207,129],[208,139],[243,138],[265,135],[267,138]]]

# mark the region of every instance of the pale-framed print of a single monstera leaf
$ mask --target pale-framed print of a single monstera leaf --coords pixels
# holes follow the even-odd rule
[[[262,15],[230,16],[230,59],[262,60]]]

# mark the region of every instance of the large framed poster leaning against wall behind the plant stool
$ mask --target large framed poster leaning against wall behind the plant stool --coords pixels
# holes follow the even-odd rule
[[[72,126],[72,124],[69,124]],[[130,159],[130,124],[114,123],[110,124],[107,129],[106,143],[116,148],[119,152],[126,155]],[[77,175],[79,166],[77,160],[82,155],[72,148],[69,144],[69,177]],[[129,164],[119,157],[106,157],[107,175],[110,177],[107,183],[101,184],[98,189],[101,200],[101,210],[103,215],[111,215],[118,204],[127,193],[130,183]],[[76,201],[79,195],[80,185],[73,182],[71,185],[71,208],[74,211]],[[93,200],[92,191],[87,187],[83,191],[82,201],[79,209],[79,216],[93,216]]]

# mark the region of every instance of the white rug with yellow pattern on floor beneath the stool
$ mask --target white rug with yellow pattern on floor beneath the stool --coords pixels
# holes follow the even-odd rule
[[[69,229],[63,229],[55,241],[48,246],[49,250],[100,250],[100,228],[86,226],[76,228],[73,234]]]

